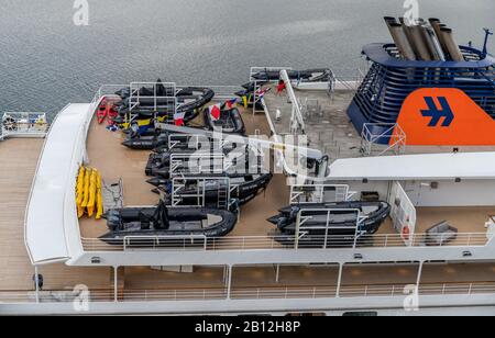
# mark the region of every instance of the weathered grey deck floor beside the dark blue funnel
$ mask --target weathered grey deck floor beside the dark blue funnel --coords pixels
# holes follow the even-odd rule
[[[439,154],[452,153],[450,146],[405,146],[397,139],[394,147],[365,142],[348,116],[348,108],[355,94],[356,84],[346,83],[345,89],[332,92],[322,90],[295,91],[295,95],[302,106],[305,133],[309,147],[329,155],[330,160],[339,158],[356,158],[363,156],[395,155],[395,154]],[[342,87],[342,86],[341,86]],[[273,86],[264,95],[271,119],[273,132],[277,135],[290,135],[290,117],[293,104],[285,93],[277,94]],[[277,116],[277,111],[282,114]],[[367,135],[369,139],[380,135]],[[404,135],[407,139],[407,135]],[[493,151],[493,146],[457,146],[458,151]]]

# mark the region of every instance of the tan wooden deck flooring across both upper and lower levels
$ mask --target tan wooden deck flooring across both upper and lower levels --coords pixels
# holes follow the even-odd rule
[[[268,123],[263,114],[251,114],[243,112],[249,132],[260,129],[268,133]],[[105,127],[91,123],[88,134],[89,166],[98,168],[106,181],[123,179],[125,205],[155,204],[157,195],[151,192],[151,187],[144,182],[143,168],[147,159],[147,151],[129,150],[121,146],[120,133],[110,133]],[[13,138],[0,143],[0,263],[3,273],[0,278],[0,297],[11,295],[12,292],[29,292],[34,290],[33,274],[35,270],[30,262],[24,246],[24,215],[29,200],[31,184],[36,171],[40,154],[43,149],[42,139]],[[265,219],[276,213],[276,210],[288,204],[289,189],[285,177],[275,176],[265,193],[258,195],[254,201],[241,211],[241,219],[234,232],[229,235],[238,238],[229,243],[223,249],[239,249],[239,238],[250,236],[268,236],[273,226]],[[50,212],[50,211],[47,211]],[[448,219],[454,224],[460,233],[484,233],[484,222],[495,214],[495,207],[425,207],[418,210],[418,233],[424,232],[432,224]],[[89,218],[80,219],[80,235],[82,240],[90,240],[91,245],[98,236],[107,230],[105,221]],[[391,221],[387,221],[376,235],[378,246],[387,235],[396,235]],[[385,236],[385,237],[382,237]],[[459,236],[459,241],[449,245],[466,245],[465,237]],[[471,245],[476,245],[480,238],[472,238]],[[483,241],[481,245],[484,245]],[[91,250],[91,245],[87,250]],[[402,246],[399,244],[395,244]],[[418,244],[419,245],[419,244]],[[391,245],[393,246],[393,245]],[[101,250],[101,245],[98,245]],[[266,247],[261,247],[266,248]],[[272,244],[272,248],[276,245]],[[122,248],[108,248],[109,250],[122,250]],[[245,247],[244,247],[245,249]],[[446,288],[443,284],[452,285],[454,292],[461,288],[472,288],[475,283],[479,288],[492,288],[495,282],[494,266],[487,263],[472,264],[426,264],[421,277],[425,292],[428,288]],[[166,269],[165,269],[166,270]],[[371,292],[376,286],[376,292],[383,292],[382,288],[399,290],[406,284],[415,283],[418,266],[416,263],[397,263],[393,266],[353,266],[344,268],[342,274],[342,290],[349,295],[354,292]],[[122,300],[132,300],[133,292],[143,290],[158,291],[162,297],[169,297],[177,290],[195,291],[207,290],[224,292],[226,270],[224,267],[195,267],[188,272],[157,271],[145,267],[127,267],[119,269],[119,292]],[[38,273],[44,278],[43,290],[51,292],[48,297],[54,297],[53,292],[70,291],[78,284],[85,284],[90,290],[97,290],[102,294],[111,293],[114,281],[112,268],[100,267],[68,267],[64,263],[47,264],[38,267]],[[321,293],[328,296],[336,292],[338,268],[336,266],[258,266],[258,267],[234,267],[232,274],[232,297],[267,297],[282,296],[290,292]],[[363,289],[366,285],[366,289]],[[481,285],[481,286],[480,286]],[[485,285],[485,286],[483,286]],[[447,286],[449,288],[449,286]],[[309,290],[309,291],[308,291]],[[358,290],[358,291],[356,291]],[[163,293],[160,293],[163,292]],[[261,294],[260,294],[261,293]],[[180,294],[180,292],[179,292]],[[213,293],[216,294],[216,293]],[[217,294],[218,295],[218,294]],[[223,293],[220,293],[222,296]],[[318,294],[317,294],[318,296]],[[180,297],[180,296],[179,296]],[[187,294],[184,295],[187,297]]]

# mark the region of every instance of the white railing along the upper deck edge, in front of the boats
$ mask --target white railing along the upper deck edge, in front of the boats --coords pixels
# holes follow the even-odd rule
[[[143,237],[142,237],[143,238]],[[155,237],[151,236],[150,241]],[[134,245],[140,249],[147,250],[198,250],[198,251],[219,251],[219,250],[294,250],[296,248],[295,237],[288,236],[228,236],[228,237],[207,237],[202,240],[193,240],[190,237],[174,238],[169,240],[162,239],[160,245],[146,243],[143,238],[141,245]],[[439,239],[439,240],[436,240]],[[410,247],[421,248],[439,248],[439,247],[483,247],[486,246],[488,238],[486,233],[460,233],[458,237],[444,243],[442,235],[411,235]],[[106,239],[102,241],[98,238],[82,238],[82,246],[85,251],[122,251],[122,239]],[[327,246],[324,246],[327,244]],[[311,243],[299,243],[299,249],[352,249],[354,246],[354,238],[352,236],[311,236]],[[406,244],[399,234],[388,235],[363,235],[355,240],[356,248],[405,248]]]

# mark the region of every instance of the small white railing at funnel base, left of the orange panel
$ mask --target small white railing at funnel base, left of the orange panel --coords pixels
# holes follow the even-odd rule
[[[375,134],[372,131],[373,127],[386,127],[386,129]],[[377,143],[382,139],[389,139],[389,142],[386,146],[378,146]],[[406,139],[407,135],[398,123],[365,123],[361,133],[361,150],[364,156],[382,156],[388,151],[399,155],[406,151]]]

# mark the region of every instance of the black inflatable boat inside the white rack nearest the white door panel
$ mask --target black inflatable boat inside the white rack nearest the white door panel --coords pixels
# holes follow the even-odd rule
[[[327,210],[338,210],[328,215]],[[286,235],[295,235],[297,215],[300,211],[307,218],[300,225],[300,232],[309,236],[328,235],[354,235],[356,233],[358,214],[361,212],[364,219],[358,229],[361,234],[374,234],[382,223],[388,217],[391,206],[386,202],[341,202],[327,204],[298,204],[279,210],[279,214],[267,221],[277,226],[278,230]],[[329,218],[327,218],[329,217]],[[328,228],[327,228],[328,224]]]

